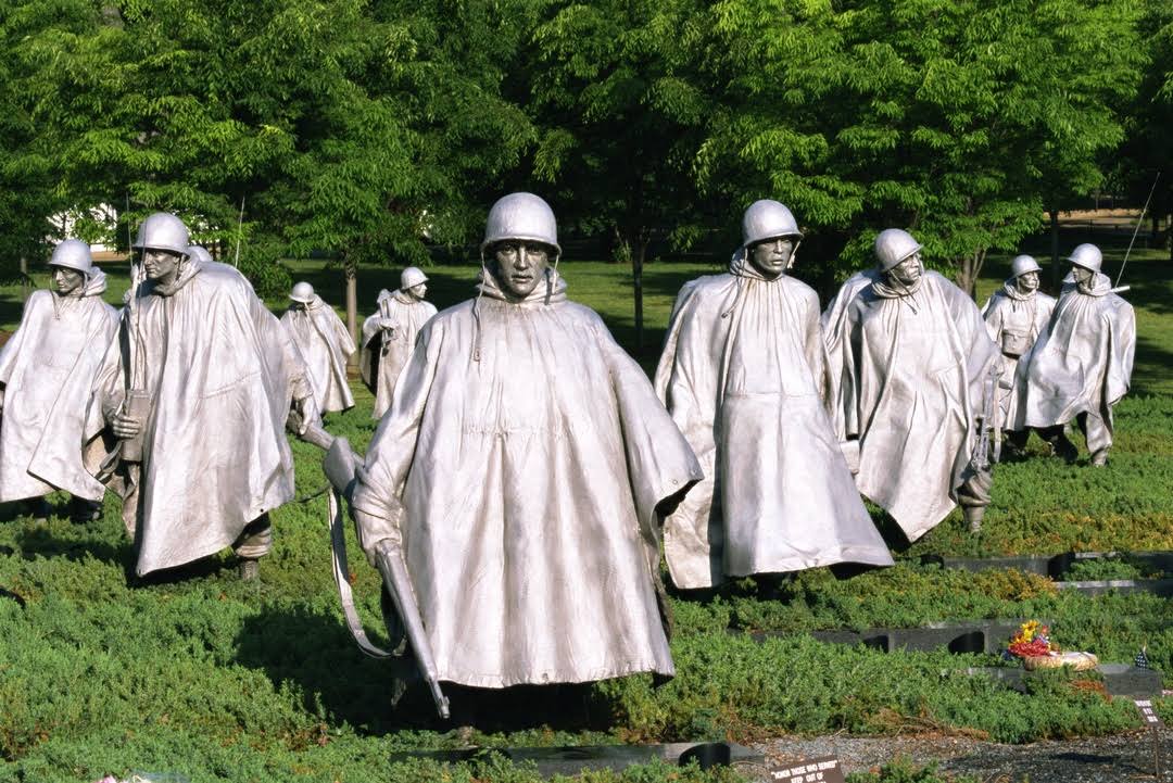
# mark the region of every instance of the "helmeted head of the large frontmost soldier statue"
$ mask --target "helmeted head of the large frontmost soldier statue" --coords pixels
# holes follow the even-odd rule
[[[481,258],[502,290],[524,299],[540,280],[554,256],[557,263],[558,225],[554,210],[534,193],[510,193],[489,210],[481,243]]]

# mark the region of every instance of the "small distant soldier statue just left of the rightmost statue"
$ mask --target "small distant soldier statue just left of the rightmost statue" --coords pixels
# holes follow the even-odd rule
[[[998,421],[1008,430],[1006,444],[1022,454],[1029,429],[1015,429],[1018,394],[1015,374],[1018,360],[1030,352],[1055,309],[1055,297],[1038,290],[1040,267],[1030,256],[1017,256],[1010,263],[1010,277],[982,308],[985,328],[1002,349],[1002,375],[998,380]],[[995,449],[995,459],[999,450]]]

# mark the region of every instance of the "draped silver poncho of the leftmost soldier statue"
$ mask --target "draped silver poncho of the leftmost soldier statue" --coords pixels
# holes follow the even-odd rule
[[[96,468],[104,450],[94,443],[83,452],[82,429],[94,374],[118,326],[104,291],[106,274],[95,270],[73,294],[34,292],[0,349],[0,503],[56,489],[102,499],[86,463]]]

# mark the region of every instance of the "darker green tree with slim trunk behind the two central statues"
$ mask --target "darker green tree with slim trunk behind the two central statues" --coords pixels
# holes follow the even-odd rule
[[[703,41],[693,0],[557,4],[534,33],[529,110],[541,129],[538,182],[557,186],[560,215],[613,236],[630,259],[637,349],[643,265],[659,232],[687,246],[700,199],[691,165],[708,110],[687,79]]]

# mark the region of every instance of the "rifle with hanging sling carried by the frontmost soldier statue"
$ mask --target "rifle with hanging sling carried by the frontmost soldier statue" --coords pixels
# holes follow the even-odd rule
[[[299,425],[297,414],[290,414],[290,427]],[[354,608],[354,598],[351,593],[348,580],[350,568],[346,561],[346,539],[343,535],[343,498],[350,498],[358,482],[358,467],[362,459],[351,450],[351,444],[345,437],[334,437],[320,424],[311,423],[305,427],[301,438],[313,445],[326,450],[321,469],[330,479],[330,537],[333,549],[334,583],[338,585],[338,594],[343,602],[343,613],[346,615],[346,625],[354,636],[359,649],[377,659],[398,656],[396,653],[388,653],[373,645],[362,629],[362,621]],[[351,517],[354,517],[353,509]],[[436,704],[440,717],[448,719],[448,699],[440,689],[440,676],[436,669],[435,658],[432,655],[432,645],[428,642],[423,628],[423,618],[420,617],[420,607],[415,602],[415,592],[412,588],[407,566],[398,552],[386,547],[380,547],[375,553],[379,573],[395,606],[395,612],[404,622],[404,632],[407,642],[415,654],[415,662],[419,665],[420,674],[432,692],[432,700]],[[391,631],[391,628],[388,628]]]

